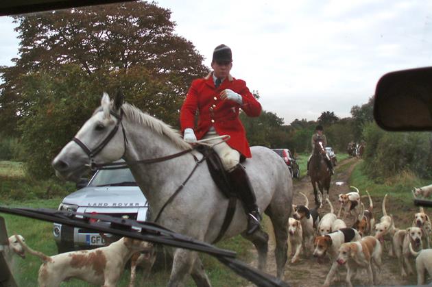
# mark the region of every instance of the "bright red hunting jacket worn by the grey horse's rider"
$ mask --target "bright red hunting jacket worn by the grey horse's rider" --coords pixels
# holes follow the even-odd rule
[[[219,93],[229,88],[243,98],[243,105],[235,101],[222,101]],[[228,75],[218,88],[215,88],[212,73],[205,78],[195,79],[187,93],[186,100],[180,110],[182,132],[190,127],[200,140],[213,125],[217,134],[228,134],[228,145],[239,151],[246,158],[252,157],[246,133],[239,118],[239,109],[248,116],[259,116],[261,105],[249,91],[246,83]],[[195,129],[195,112],[199,111],[198,126]]]

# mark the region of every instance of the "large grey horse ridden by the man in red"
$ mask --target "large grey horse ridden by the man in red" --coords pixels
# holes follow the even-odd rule
[[[99,163],[120,158],[134,162],[162,158],[190,149],[191,145],[163,121],[123,103],[122,97],[110,101],[104,93],[101,107],[84,123],[74,140],[63,147],[52,165],[58,177],[77,182],[86,171],[89,158]],[[277,277],[281,278],[287,261],[287,222],[291,214],[293,190],[291,177],[287,166],[274,151],[265,147],[252,147],[251,150],[252,158],[246,160],[244,166],[256,191],[256,203],[272,221]],[[192,172],[196,166],[195,158],[200,157],[200,153],[192,150],[163,162],[130,164],[130,169],[149,201],[152,218],[158,216],[157,223],[174,232],[214,242],[224,222],[228,199],[217,190],[205,164],[197,166]],[[187,184],[163,208],[189,175]],[[265,271],[268,236],[261,230],[246,236],[246,220],[242,205],[237,204],[222,240],[237,234],[250,240],[259,254],[259,269]],[[173,250],[173,268],[168,286],[180,286],[188,273],[197,286],[211,286],[196,252]]]

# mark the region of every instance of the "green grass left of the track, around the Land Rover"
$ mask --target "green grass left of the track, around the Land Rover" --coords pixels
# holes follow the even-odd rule
[[[25,177],[23,166],[17,162],[0,162],[0,183],[3,190],[0,190],[0,205],[8,207],[30,207],[30,208],[52,208],[57,209],[62,201],[62,196],[66,195],[68,190],[73,190],[73,184],[64,184],[58,182],[35,182]],[[48,188],[51,186],[51,188]],[[61,188],[63,187],[63,190]],[[56,190],[55,195],[47,195],[49,190]],[[19,199],[21,197],[21,199]],[[37,199],[36,197],[40,197]],[[48,198],[51,197],[51,198]],[[8,235],[21,234],[24,236],[27,244],[35,250],[41,251],[47,255],[57,253],[56,243],[52,236],[52,223],[28,219],[21,216],[10,214],[0,214],[5,219]],[[240,260],[250,261],[252,259],[249,250],[252,244],[241,236],[226,240],[217,244],[217,247],[230,249],[237,252]],[[228,267],[215,260],[210,255],[203,254],[202,261],[206,266],[207,275],[211,282],[220,282],[219,286],[242,286],[247,282],[245,279],[237,276]],[[15,258],[14,260],[14,277],[20,287],[34,287],[37,285],[38,269],[41,262],[33,255],[27,255],[25,260]],[[143,278],[141,272],[138,273],[136,286],[166,286],[170,270],[163,267],[157,272],[152,273],[148,278]],[[128,268],[118,286],[128,286],[130,269]],[[76,279],[62,284],[67,287],[84,287],[93,286],[83,283]],[[187,280],[186,286],[195,286],[192,279]],[[218,286],[215,284],[215,286]]]

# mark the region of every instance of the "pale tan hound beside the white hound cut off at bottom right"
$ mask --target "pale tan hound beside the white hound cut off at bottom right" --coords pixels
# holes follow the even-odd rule
[[[409,263],[411,253],[409,245],[413,245],[417,250],[422,249],[422,229],[420,227],[409,227],[407,229],[398,230],[393,236],[393,247],[400,264],[400,273],[402,277],[407,277],[405,266],[408,274],[413,274],[413,269]]]

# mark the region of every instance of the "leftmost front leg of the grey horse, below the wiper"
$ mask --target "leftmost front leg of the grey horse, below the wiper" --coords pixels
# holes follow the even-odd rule
[[[173,268],[171,269],[171,276],[169,277],[167,286],[183,286],[184,275],[191,273],[197,259],[197,253],[178,248],[174,251],[173,257]]]

